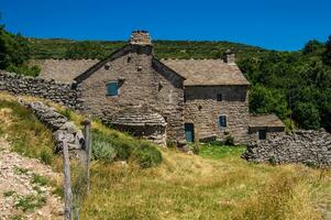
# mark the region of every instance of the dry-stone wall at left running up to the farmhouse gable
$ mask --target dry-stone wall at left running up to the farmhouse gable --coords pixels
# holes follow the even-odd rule
[[[41,97],[74,110],[82,108],[80,88],[75,87],[73,84],[58,84],[54,80],[25,77],[0,70],[0,90],[5,90],[13,95]]]

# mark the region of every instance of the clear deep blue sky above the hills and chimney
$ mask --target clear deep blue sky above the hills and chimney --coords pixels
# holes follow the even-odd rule
[[[34,37],[231,41],[299,50],[331,35],[331,0],[0,0],[1,23]]]

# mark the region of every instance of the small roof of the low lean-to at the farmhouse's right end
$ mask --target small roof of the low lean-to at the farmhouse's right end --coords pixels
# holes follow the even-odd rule
[[[276,127],[285,128],[284,123],[275,114],[258,114],[250,116],[250,128],[262,128],[262,127]]]

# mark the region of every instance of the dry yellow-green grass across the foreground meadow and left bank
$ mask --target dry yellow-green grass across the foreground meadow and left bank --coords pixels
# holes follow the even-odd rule
[[[13,143],[23,141],[26,150],[18,152],[42,160],[38,148],[52,150],[52,136],[32,116],[20,118],[25,113],[8,105],[9,97],[0,96],[1,135]],[[67,114],[76,123],[82,119]],[[16,129],[7,130],[5,124]],[[92,127],[117,133],[113,139],[134,140],[97,121]],[[84,199],[80,219],[318,220],[320,206],[331,210],[330,170],[247,163],[240,157],[244,147],[201,145],[199,155],[161,151],[163,163],[152,168],[141,168],[134,160],[128,165],[93,161],[91,191]],[[59,169],[57,160],[52,155],[49,163]]]

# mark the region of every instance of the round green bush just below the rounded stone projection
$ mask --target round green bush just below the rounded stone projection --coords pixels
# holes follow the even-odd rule
[[[153,145],[143,142],[132,152],[142,168],[148,168],[158,165],[162,162],[161,152]]]

